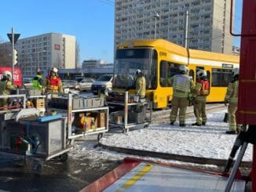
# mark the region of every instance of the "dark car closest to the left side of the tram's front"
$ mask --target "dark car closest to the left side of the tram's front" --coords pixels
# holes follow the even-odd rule
[[[99,91],[105,92],[106,90],[112,89],[112,74],[101,75],[95,82],[93,82],[91,91],[94,95],[97,95]]]

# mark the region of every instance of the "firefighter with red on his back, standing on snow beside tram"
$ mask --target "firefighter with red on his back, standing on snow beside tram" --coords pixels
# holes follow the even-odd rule
[[[210,85],[207,81],[207,71],[199,70],[196,72],[196,86],[192,89],[195,99],[194,104],[194,114],[196,116],[196,123],[192,125],[201,126],[207,124],[207,114],[206,114],[206,103],[207,96],[210,94]]]

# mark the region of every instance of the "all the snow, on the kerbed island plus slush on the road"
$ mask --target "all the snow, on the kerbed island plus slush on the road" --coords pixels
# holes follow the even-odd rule
[[[101,143],[115,147],[130,147],[140,150],[153,150],[173,154],[185,154],[205,158],[228,159],[236,135],[227,135],[228,124],[222,120],[226,110],[207,114],[206,126],[197,127],[191,124],[195,118],[189,118],[187,126],[181,128],[178,125],[170,126],[169,123],[153,124],[147,129],[137,129],[123,134],[120,132],[106,133]],[[177,124],[177,123],[176,123]],[[130,154],[117,153],[105,150],[102,147],[94,147],[97,136],[87,136],[86,139],[75,141],[74,148],[70,151],[70,158],[83,160],[91,159],[90,166],[100,163],[101,159],[109,161],[121,161],[123,158],[143,158],[145,160],[173,163],[177,165],[196,165],[193,163],[163,160],[161,158],[140,157]],[[248,145],[243,161],[251,161],[252,147]],[[238,154],[238,152],[237,152]],[[81,164],[83,165],[83,164]],[[88,166],[85,164],[85,166]],[[215,168],[215,165],[204,165],[206,168]]]

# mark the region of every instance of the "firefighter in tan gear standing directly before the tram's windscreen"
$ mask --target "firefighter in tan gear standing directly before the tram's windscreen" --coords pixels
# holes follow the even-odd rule
[[[136,74],[136,89],[135,95],[139,96],[140,99],[144,99],[146,96],[146,78],[141,70],[137,69]]]

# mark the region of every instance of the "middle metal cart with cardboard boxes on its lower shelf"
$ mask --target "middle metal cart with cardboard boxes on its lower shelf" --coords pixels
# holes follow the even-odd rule
[[[104,106],[103,98],[69,93],[68,98],[64,96],[52,100],[54,105],[49,109],[67,115],[68,139],[97,134],[99,140],[104,132],[108,132],[108,107]]]

